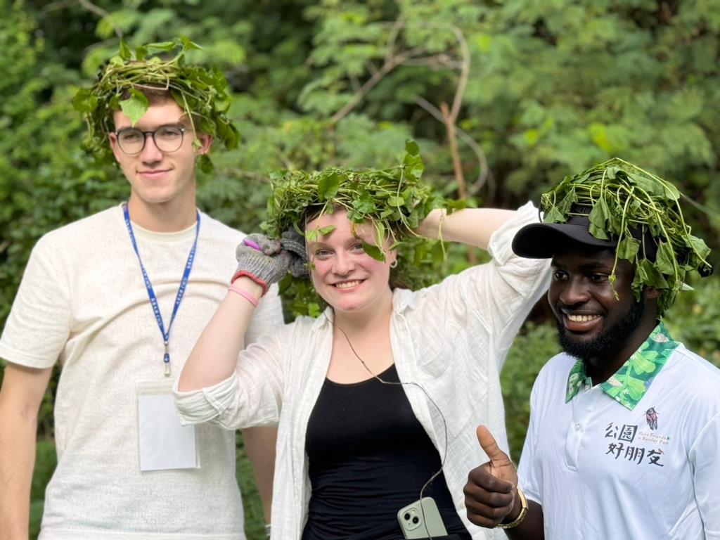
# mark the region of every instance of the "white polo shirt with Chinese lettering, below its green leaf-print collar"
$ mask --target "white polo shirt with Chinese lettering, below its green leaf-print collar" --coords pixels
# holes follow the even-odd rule
[[[538,375],[518,470],[545,539],[719,540],[720,370],[680,345],[630,410],[599,385],[566,403],[575,361]]]

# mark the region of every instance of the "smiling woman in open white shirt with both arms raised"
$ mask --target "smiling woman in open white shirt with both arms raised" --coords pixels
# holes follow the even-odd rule
[[[397,194],[413,180],[406,169],[387,175]],[[398,510],[438,471],[423,497],[435,500],[451,538],[503,538],[467,521],[462,487],[487,461],[477,424],[507,450],[500,368],[548,281],[547,261],[515,256],[510,241],[537,212],[531,204],[432,210],[415,233],[485,248],[492,261],[426,289],[393,289],[397,253],[378,233],[387,228],[357,222],[356,205],[341,197],[363,171],[353,174],[293,223],[305,241],[251,235],[238,246],[228,296],[176,382],[181,418],[226,428],[279,423],[273,538],[402,539]],[[412,234],[400,221],[395,234]],[[258,298],[289,267],[302,273],[305,256],[325,312],[240,352]]]

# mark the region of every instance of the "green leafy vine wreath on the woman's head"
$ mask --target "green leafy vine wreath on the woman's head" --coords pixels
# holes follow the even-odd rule
[[[415,141],[405,143],[400,165],[386,169],[327,168],[318,172],[280,171],[271,174],[272,195],[262,228],[272,237],[294,228],[305,238],[330,233],[332,228],[308,230],[305,223],[337,208],[347,212],[352,223],[369,223],[374,245],[365,243],[366,253],[384,260],[382,246],[390,238],[398,256],[406,258],[423,242],[414,232],[433,208],[445,205],[431,186],[421,181],[423,160]],[[412,286],[413,269],[400,265],[394,272],[403,286]],[[288,276],[281,292],[290,309],[302,315],[318,315],[322,302],[307,279]]]

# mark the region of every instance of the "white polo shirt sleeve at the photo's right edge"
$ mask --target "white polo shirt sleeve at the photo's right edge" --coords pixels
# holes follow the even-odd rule
[[[703,518],[706,540],[720,540],[720,413],[714,415],[690,447],[688,459],[693,467],[695,500]]]

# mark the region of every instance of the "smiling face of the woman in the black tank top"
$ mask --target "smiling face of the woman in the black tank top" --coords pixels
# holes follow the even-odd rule
[[[307,242],[310,278],[320,297],[336,311],[361,312],[390,300],[390,264],[395,251],[385,246],[385,261],[365,253],[363,242],[374,244],[372,227],[353,224],[344,210],[307,222],[305,231],[332,225],[327,235]]]

